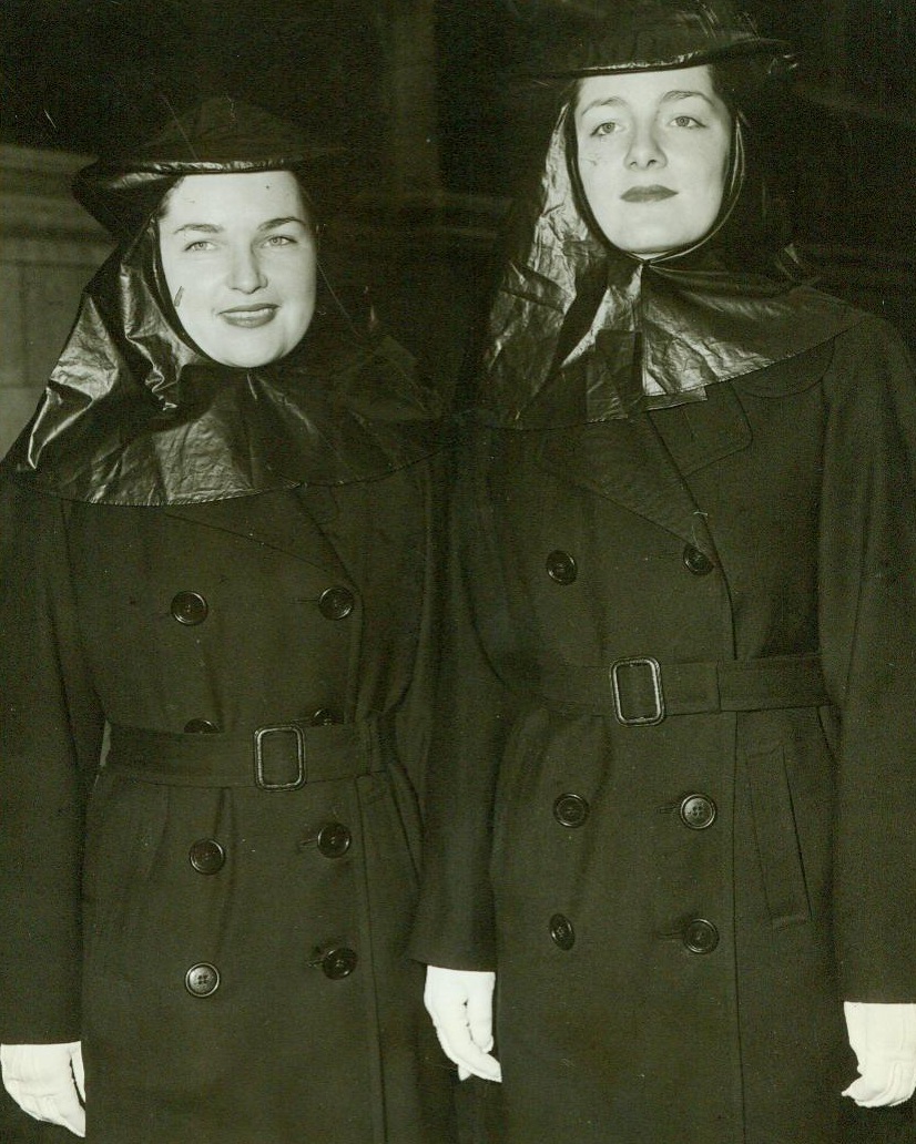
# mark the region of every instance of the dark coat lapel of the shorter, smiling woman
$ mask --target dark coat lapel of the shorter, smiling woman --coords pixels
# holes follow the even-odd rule
[[[297,488],[287,493],[262,493],[202,505],[172,505],[166,513],[206,529],[245,537],[297,559],[348,579],[337,550],[319,527],[337,515],[337,502],[327,488]]]

